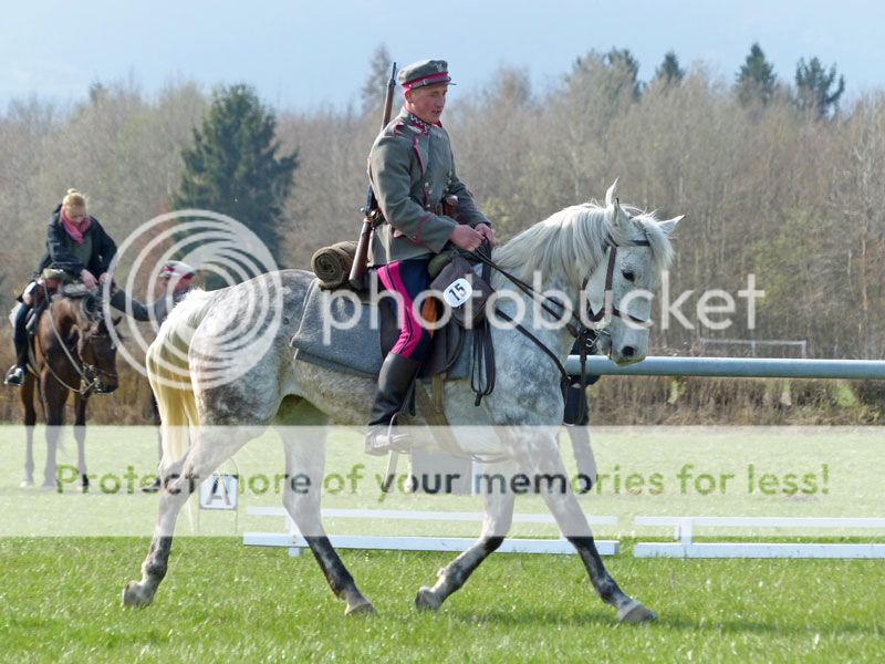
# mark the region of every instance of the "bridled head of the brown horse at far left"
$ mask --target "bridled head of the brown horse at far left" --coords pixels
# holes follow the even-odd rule
[[[119,385],[117,376],[117,345],[111,329],[116,321],[103,314],[101,301],[92,293],[85,294],[76,308],[74,326],[79,332],[77,354],[83,363],[86,380],[95,385],[96,394],[110,394]]]

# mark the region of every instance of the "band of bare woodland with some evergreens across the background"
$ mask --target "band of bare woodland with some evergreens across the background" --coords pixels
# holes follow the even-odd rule
[[[0,195],[13,229],[0,248],[7,310],[43,251],[49,212],[67,187],[122,241],[154,216],[199,207],[252,227],[281,267],[355,239],[366,155],[378,131],[391,56],[368,63],[360,107],[272,110],[254,90],[191,82],[157,94],[95,84],[60,107],[39,97],[0,115]],[[462,63],[461,66],[469,66]],[[754,330],[653,330],[657,352],[701,336],[805,340],[813,356],[885,355],[885,92],[843,104],[844,77],[818,58],[781,80],[759,44],[733,77],[667,53],[649,81],[627,49],[590,51],[544,89],[502,66],[471,94],[450,94],[444,123],[459,174],[498,235],[576,203],[615,178],[624,203],[687,214],[670,300],[766,291]],[[296,85],[293,82],[293,85]],[[660,321],[660,317],[655,321]],[[9,328],[2,343],[9,345]]]

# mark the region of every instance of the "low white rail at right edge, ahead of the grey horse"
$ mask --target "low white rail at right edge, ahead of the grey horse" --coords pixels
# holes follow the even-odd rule
[[[877,529],[885,518],[866,517],[635,517],[636,526],[675,528],[676,542],[638,542],[635,558],[885,558],[885,544],[827,542],[695,542],[695,529]]]

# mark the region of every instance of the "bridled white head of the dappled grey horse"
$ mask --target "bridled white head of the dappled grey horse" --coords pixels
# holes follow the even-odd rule
[[[648,354],[652,299],[660,274],[673,259],[670,236],[684,215],[658,221],[654,215],[622,206],[606,194],[611,214],[605,257],[585,286],[591,309],[603,312],[600,352],[618,365],[639,362]]]

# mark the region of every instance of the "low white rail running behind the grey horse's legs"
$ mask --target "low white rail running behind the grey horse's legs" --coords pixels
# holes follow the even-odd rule
[[[287,547],[290,556],[299,556],[308,547],[289,512],[281,507],[251,507],[247,513],[263,517],[285,517],[285,532],[244,532],[242,543],[248,547]],[[381,519],[397,521],[471,521],[481,522],[481,512],[442,512],[389,509],[324,509],[323,518]],[[617,526],[617,517],[587,517],[591,526]],[[555,523],[551,515],[513,515],[514,523]],[[337,549],[372,549],[386,551],[466,551],[477,539],[465,537],[402,537],[371,535],[332,535],[332,546]],[[616,540],[596,540],[601,556],[615,556],[620,551]],[[498,551],[502,553],[575,553],[565,539],[504,539]]]

